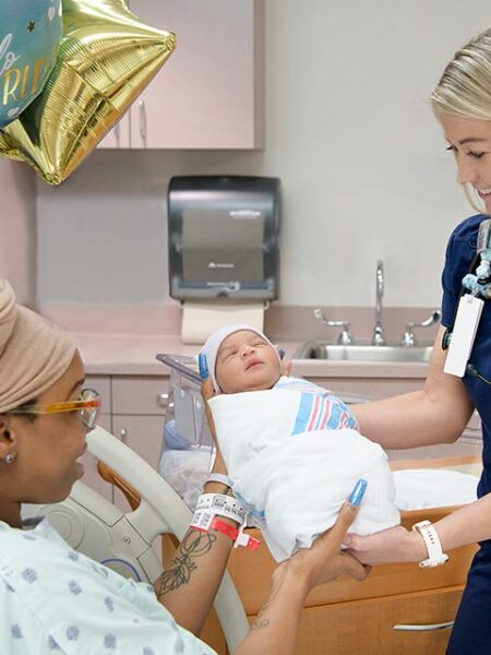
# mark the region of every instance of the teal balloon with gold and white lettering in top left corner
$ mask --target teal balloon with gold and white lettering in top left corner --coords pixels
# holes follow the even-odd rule
[[[62,28],[61,0],[0,0],[0,128],[43,91]]]

